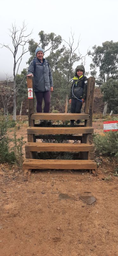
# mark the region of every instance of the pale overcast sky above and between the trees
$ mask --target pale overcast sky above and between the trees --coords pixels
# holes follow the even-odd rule
[[[92,46],[102,45],[102,42],[118,41],[118,1],[117,0],[1,0],[0,3],[0,43],[11,44],[8,28],[16,22],[16,26],[27,24],[27,32],[33,29],[33,38],[39,41],[38,33],[54,32],[68,41],[70,30],[75,32],[75,46],[79,35],[80,52],[85,55]],[[28,49],[28,45],[27,45]],[[29,53],[23,57],[19,74],[26,68]],[[89,71],[91,59],[86,58],[86,71]],[[76,63],[80,64],[80,63]],[[0,49],[0,81],[5,79],[5,73],[13,75],[13,55],[6,48]]]

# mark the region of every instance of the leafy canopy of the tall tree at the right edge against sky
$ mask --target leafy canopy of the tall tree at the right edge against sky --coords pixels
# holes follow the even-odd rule
[[[91,75],[96,75],[96,69],[99,68],[99,78],[106,82],[109,78],[118,77],[118,42],[106,41],[102,46],[94,45],[93,52],[89,51],[88,55],[92,57],[90,64]]]

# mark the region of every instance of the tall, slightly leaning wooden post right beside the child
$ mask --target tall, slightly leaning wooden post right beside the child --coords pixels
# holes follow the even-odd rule
[[[89,120],[85,120],[85,126],[92,126],[94,89],[95,89],[95,77],[89,77],[88,85],[87,85],[87,98],[85,103],[85,113],[89,114]]]

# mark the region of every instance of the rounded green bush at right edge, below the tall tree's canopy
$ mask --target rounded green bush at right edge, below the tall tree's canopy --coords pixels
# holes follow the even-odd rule
[[[113,78],[110,78],[106,83],[102,85],[101,91],[103,93],[103,101],[108,101],[109,111],[113,110],[113,112],[117,114],[118,113],[118,80],[114,80]]]

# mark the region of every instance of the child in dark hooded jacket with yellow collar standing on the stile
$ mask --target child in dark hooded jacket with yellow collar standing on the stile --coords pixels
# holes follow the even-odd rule
[[[76,67],[75,77],[70,89],[69,103],[71,104],[71,113],[81,113],[82,104],[87,96],[87,77],[84,76],[85,69],[83,65]],[[70,120],[70,126],[74,126],[75,120]],[[81,120],[77,120],[79,124]]]

